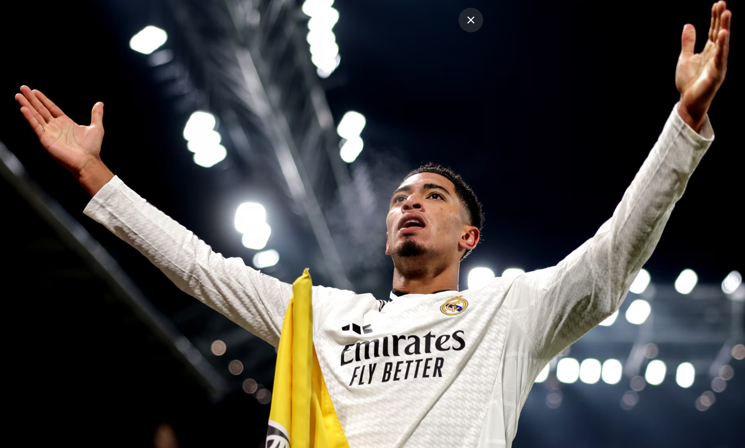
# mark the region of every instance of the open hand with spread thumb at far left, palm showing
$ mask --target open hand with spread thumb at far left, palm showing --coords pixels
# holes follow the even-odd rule
[[[104,103],[96,103],[91,111],[91,124],[81,126],[42,92],[31,90],[28,86],[21,86],[21,92],[16,94],[21,113],[57,163],[75,175],[89,161],[100,160],[101,142],[104,139]]]

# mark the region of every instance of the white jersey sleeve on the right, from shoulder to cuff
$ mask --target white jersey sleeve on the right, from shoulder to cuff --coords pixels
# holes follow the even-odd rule
[[[713,141],[708,116],[698,134],[676,104],[612,218],[558,265],[514,280],[513,316],[540,359],[552,359],[618,310]]]

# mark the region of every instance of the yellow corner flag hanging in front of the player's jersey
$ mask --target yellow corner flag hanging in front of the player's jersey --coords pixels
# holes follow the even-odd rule
[[[292,284],[274,372],[267,448],[349,448],[313,347],[311,274]]]

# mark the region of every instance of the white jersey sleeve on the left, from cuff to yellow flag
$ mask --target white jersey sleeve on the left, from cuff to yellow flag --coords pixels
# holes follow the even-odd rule
[[[243,259],[215,253],[118,176],[93,196],[83,213],[139,250],[182,291],[278,346],[292,285],[261,274]]]

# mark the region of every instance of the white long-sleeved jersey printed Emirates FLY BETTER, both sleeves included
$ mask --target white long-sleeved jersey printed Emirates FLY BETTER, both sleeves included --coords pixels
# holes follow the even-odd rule
[[[349,446],[510,447],[533,380],[621,306],[713,139],[708,117],[699,135],[673,108],[612,218],[551,268],[401,297],[314,286],[314,344]],[[279,344],[292,285],[213,252],[118,177],[84,213]]]

